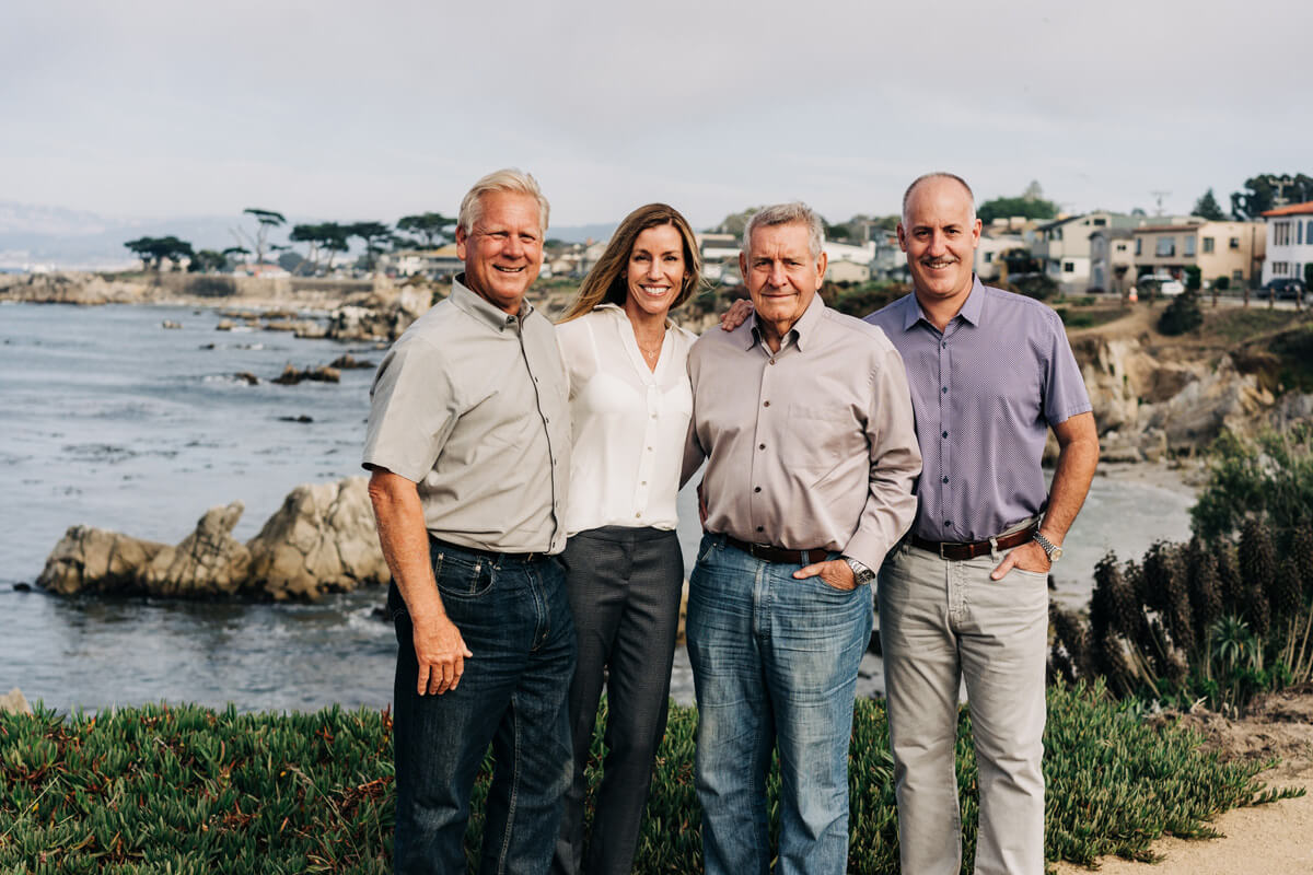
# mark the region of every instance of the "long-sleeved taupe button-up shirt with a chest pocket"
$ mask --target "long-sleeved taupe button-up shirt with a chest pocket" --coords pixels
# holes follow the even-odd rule
[[[817,295],[772,353],[750,319],[688,354],[683,479],[708,459],[706,530],[880,568],[916,510],[920,453],[898,353]]]

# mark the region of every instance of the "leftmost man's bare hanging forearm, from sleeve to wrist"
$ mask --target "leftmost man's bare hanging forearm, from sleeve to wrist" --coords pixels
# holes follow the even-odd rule
[[[424,508],[415,484],[390,471],[374,471],[369,479],[369,500],[374,505],[383,559],[406,609],[416,619],[445,615],[428,556]]]

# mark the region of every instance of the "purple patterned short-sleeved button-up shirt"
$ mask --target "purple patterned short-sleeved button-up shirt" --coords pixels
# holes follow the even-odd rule
[[[902,353],[916,408],[924,471],[913,531],[983,540],[1039,514],[1049,426],[1092,409],[1058,315],[976,278],[943,333],[915,294],[867,321]]]

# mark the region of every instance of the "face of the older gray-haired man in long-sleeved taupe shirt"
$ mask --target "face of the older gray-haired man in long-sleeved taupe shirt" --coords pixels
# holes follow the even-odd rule
[[[763,224],[752,230],[748,251],[739,253],[743,282],[772,349],[779,349],[825,281],[826,254],[814,257],[809,244],[810,232],[801,222]]]

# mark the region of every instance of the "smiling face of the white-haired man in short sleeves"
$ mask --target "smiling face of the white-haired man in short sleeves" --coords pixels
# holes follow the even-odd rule
[[[465,261],[470,291],[512,316],[542,268],[542,218],[536,198],[519,192],[479,197],[469,234],[456,230],[456,253]]]

